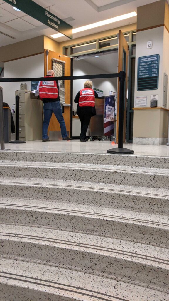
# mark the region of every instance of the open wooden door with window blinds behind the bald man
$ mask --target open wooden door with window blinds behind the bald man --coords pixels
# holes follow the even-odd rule
[[[59,54],[59,53],[49,50],[48,66],[47,66],[46,50],[47,49],[44,49],[44,55],[45,55],[45,57],[44,57],[44,60],[45,60],[44,74],[46,75],[47,70],[52,69],[52,58],[55,58],[57,60],[65,62],[65,64],[64,64],[65,76],[70,76],[70,64],[71,64],[70,57],[66,57],[66,56],[63,56],[63,54]],[[65,80],[64,84],[65,84],[65,104],[70,104],[70,80]],[[70,137],[70,107],[64,106],[63,117],[65,120],[66,130],[67,130],[67,132],[69,132],[68,135]],[[49,123],[49,127],[48,127],[48,132],[51,132],[51,131],[60,132],[60,125],[59,125],[54,113],[52,114],[52,117],[51,117],[51,120]]]

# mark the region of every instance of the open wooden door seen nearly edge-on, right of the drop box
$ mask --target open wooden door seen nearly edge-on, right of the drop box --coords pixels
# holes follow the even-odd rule
[[[127,107],[127,78],[128,78],[128,43],[126,42],[123,33],[119,30],[118,33],[118,73],[120,71],[125,71],[125,95],[124,95],[124,127],[123,127],[123,141],[125,142],[125,132],[126,132],[126,107]],[[119,92],[120,84],[118,79],[118,100],[117,100],[117,129],[116,129],[116,142],[118,143],[118,118],[119,118]]]

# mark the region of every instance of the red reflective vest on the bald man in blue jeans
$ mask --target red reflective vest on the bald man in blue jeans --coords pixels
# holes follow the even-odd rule
[[[49,76],[45,77],[49,78]],[[58,88],[56,81],[41,81],[39,85],[39,96],[40,98],[58,98]]]

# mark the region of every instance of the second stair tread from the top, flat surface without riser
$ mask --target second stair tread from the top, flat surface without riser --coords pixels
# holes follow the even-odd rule
[[[24,185],[24,186],[38,186],[38,187],[62,187],[73,188],[81,190],[97,190],[106,192],[117,192],[123,194],[132,194],[148,197],[164,197],[169,198],[169,190],[152,187],[138,187],[128,185],[115,185],[104,183],[80,182],[80,181],[66,181],[66,180],[51,180],[43,178],[8,178],[0,177],[0,184],[5,185]]]

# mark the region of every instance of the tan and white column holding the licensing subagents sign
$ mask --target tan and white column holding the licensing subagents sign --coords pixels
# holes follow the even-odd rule
[[[147,42],[152,48],[147,49]],[[158,89],[137,90],[138,58],[159,54]],[[168,75],[167,105],[163,103],[164,73]],[[149,88],[149,87],[148,87]],[[158,95],[157,107],[150,107],[151,95]],[[136,71],[134,96],[147,96],[147,105],[136,107],[134,101],[134,144],[166,144],[169,109],[169,5],[161,0],[137,10]]]

